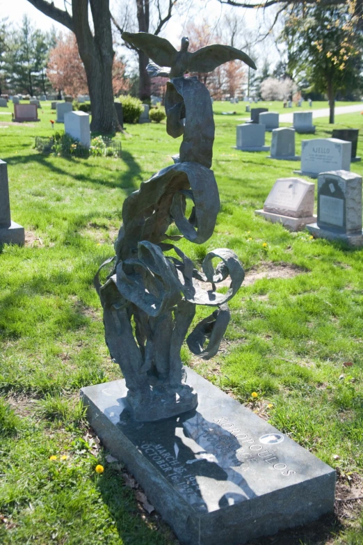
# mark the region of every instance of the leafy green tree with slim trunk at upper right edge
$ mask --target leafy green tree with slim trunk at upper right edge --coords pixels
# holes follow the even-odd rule
[[[296,6],[285,22],[282,38],[287,42],[289,72],[296,70],[318,93],[328,95],[329,123],[334,123],[334,100],[338,91],[363,86],[362,35],[355,7]]]

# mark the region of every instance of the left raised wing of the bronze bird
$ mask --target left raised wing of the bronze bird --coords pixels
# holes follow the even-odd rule
[[[123,32],[122,39],[134,47],[141,49],[154,63],[160,66],[171,66],[177,49],[165,38],[159,38],[147,32]]]

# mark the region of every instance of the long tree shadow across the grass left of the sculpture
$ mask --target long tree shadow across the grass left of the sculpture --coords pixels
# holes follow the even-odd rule
[[[67,161],[67,164],[70,166],[69,170],[66,170],[65,168],[61,168],[61,166],[56,166],[53,161],[50,161],[49,159],[60,159],[62,161]],[[24,155],[17,155],[16,157],[3,157],[3,161],[8,163],[12,166],[17,165],[26,165],[29,163],[38,164],[40,167],[44,167],[49,169],[55,174],[58,175],[66,175],[69,177],[72,177],[77,182],[91,182],[99,185],[104,185],[108,187],[112,187],[113,189],[125,189],[125,188],[133,188],[138,189],[138,181],[142,182],[143,177],[141,175],[141,167],[138,164],[137,161],[135,161],[134,157],[131,155],[130,152],[122,150],[122,163],[127,166],[127,171],[114,171],[112,168],[109,168],[107,166],[99,165],[99,168],[103,168],[104,171],[109,171],[111,173],[115,172],[120,176],[119,182],[114,182],[112,180],[99,180],[95,177],[92,177],[92,175],[87,174],[77,174],[74,173],[74,170],[77,166],[80,166],[81,168],[92,168],[92,171],[95,170],[95,165],[88,163],[87,159],[78,159],[75,157],[55,157],[47,156],[47,155],[41,155],[38,153],[33,153],[31,155],[24,154]]]

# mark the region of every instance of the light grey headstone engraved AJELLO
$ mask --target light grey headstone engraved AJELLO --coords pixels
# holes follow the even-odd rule
[[[352,143],[334,138],[302,140],[298,174],[318,177],[327,171],[350,171]]]

